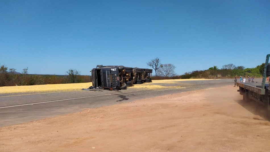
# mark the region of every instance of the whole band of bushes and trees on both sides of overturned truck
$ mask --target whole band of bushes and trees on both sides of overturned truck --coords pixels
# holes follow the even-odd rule
[[[217,66],[209,67],[206,70],[196,70],[186,72],[183,75],[177,75],[175,65],[171,63],[161,63],[161,59],[156,57],[146,63],[153,68],[155,73],[152,80],[163,79],[222,79],[234,77],[262,77],[265,63],[254,68],[245,68],[236,66],[232,63],[223,65],[220,69]],[[21,86],[21,85],[46,85],[46,84],[65,84],[65,83],[87,83],[92,82],[90,75],[80,75],[76,69],[68,69],[65,75],[37,75],[28,74],[28,67],[21,73],[16,72],[14,68],[8,68],[0,65],[0,87],[3,86]]]

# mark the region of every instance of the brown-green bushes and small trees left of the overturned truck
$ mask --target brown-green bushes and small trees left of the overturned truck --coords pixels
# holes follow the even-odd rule
[[[36,75],[28,74],[28,67],[19,73],[14,68],[0,65],[0,87],[86,82],[92,82],[91,76],[80,75],[80,71],[76,69],[69,69],[65,72],[65,75]]]

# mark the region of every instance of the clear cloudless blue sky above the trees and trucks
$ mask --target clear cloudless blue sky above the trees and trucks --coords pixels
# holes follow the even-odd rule
[[[268,0],[0,0],[0,64],[30,74],[90,75],[96,65],[176,73],[233,63],[256,67],[270,54]]]

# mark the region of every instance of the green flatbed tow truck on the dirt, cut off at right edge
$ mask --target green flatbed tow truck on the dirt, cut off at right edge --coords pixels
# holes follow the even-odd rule
[[[254,100],[260,104],[267,107],[267,110],[270,110],[269,98],[270,98],[270,88],[269,81],[265,84],[266,78],[270,76],[270,64],[269,64],[270,54],[267,54],[265,59],[265,66],[263,72],[263,79],[261,85],[258,83],[240,83],[236,82],[239,87],[238,92],[240,95],[243,95],[244,101]]]

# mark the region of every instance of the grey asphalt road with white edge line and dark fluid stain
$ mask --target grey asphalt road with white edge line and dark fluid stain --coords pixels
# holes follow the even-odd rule
[[[261,79],[256,79],[255,81],[260,82]],[[166,87],[164,89],[148,90],[129,87],[121,91],[80,90],[57,93],[1,94],[0,126],[10,126],[52,116],[80,112],[84,108],[98,108],[191,90],[226,85],[234,86],[234,79],[178,81],[176,83],[161,83],[158,85]]]

